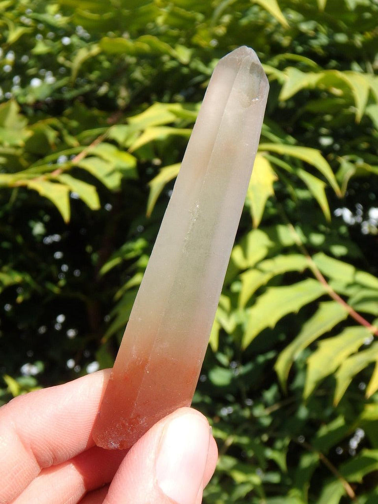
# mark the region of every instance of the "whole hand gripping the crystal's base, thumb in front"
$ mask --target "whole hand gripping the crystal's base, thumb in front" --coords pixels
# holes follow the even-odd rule
[[[216,465],[206,418],[181,408],[129,451],[94,445],[109,370],[0,408],[0,504],[199,504]]]

